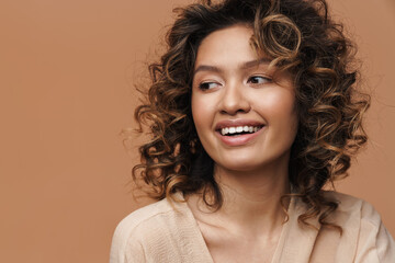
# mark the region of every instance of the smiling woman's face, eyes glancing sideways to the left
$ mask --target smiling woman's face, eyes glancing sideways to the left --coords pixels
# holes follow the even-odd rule
[[[285,72],[269,70],[249,45],[252,30],[234,25],[206,36],[199,49],[192,115],[199,138],[227,170],[289,162],[297,130],[295,94]]]

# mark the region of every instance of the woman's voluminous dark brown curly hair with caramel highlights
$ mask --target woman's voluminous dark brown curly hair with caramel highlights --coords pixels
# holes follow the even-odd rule
[[[329,18],[325,0],[202,0],[174,12],[167,52],[148,67],[147,101],[135,110],[139,132],[146,125],[151,138],[139,147],[134,180],[143,179],[156,199],[202,191],[208,206],[221,207],[214,161],[192,119],[193,68],[204,37],[246,24],[253,30],[251,47],[291,72],[295,85],[298,130],[289,164],[293,194],[281,202],[296,196],[307,207],[300,222],[312,226],[308,220],[318,218],[321,226],[339,228],[328,220],[338,204],[324,196],[323,187],[347,175],[351,157],[366,142],[362,121],[370,96],[356,88],[354,45]]]

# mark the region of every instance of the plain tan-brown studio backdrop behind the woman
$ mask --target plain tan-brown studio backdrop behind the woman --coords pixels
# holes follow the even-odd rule
[[[137,207],[136,155],[119,135],[132,83],[187,2],[0,1],[1,262],[108,262],[116,224]],[[395,2],[331,3],[373,92],[371,142],[338,190],[372,203],[394,235]]]

